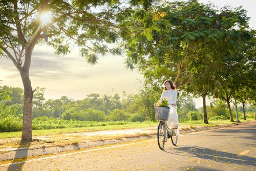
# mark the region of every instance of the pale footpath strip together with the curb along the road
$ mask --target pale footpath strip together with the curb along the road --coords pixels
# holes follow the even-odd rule
[[[230,127],[235,125],[248,124],[252,122],[256,122],[256,121],[241,122],[241,123],[234,122],[232,124],[222,124],[218,126],[198,126],[198,127],[190,127],[190,128],[186,125],[183,125],[180,127],[180,133],[186,134],[191,132],[213,130],[213,129],[219,129],[221,127]],[[140,140],[140,139],[148,139],[148,138],[156,137],[156,133],[157,133],[157,127],[145,127],[141,129],[129,129],[129,130],[72,133],[69,135],[76,136],[79,134],[80,136],[82,135],[89,138],[91,137],[91,140],[86,142],[77,142],[74,144],[68,144],[65,146],[59,146],[59,145],[55,146],[54,144],[46,146],[42,144],[38,146],[29,146],[29,147],[20,147],[20,148],[13,148],[11,146],[7,148],[0,148],[0,161],[25,158],[30,156],[53,154],[53,153],[57,154],[60,152],[74,151],[76,149],[90,148],[95,146],[134,141],[134,140]],[[115,135],[118,138],[106,139],[106,140],[102,139],[102,140],[95,141],[94,139],[95,136],[97,137],[102,135]],[[136,136],[136,135],[139,135],[139,136]],[[44,137],[40,137],[40,138],[44,138]]]

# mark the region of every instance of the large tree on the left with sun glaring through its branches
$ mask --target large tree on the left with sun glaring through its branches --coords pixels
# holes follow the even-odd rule
[[[98,54],[109,52],[124,28],[120,22],[133,6],[148,8],[150,0],[131,1],[1,1],[0,50],[9,57],[20,73],[25,101],[22,141],[32,141],[32,101],[34,90],[29,70],[34,47],[47,41],[56,54],[69,52],[70,40],[80,47],[82,56],[94,64]],[[114,46],[113,46],[114,47]]]

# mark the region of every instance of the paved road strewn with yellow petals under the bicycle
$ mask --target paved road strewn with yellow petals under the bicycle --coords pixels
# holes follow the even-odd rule
[[[256,170],[256,123],[92,148],[1,165],[0,170]]]

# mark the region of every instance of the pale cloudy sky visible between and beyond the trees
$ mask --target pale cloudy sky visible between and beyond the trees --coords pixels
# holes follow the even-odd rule
[[[211,2],[218,7],[225,5],[242,7],[251,17],[249,26],[256,29],[256,1],[254,0],[199,0]],[[94,66],[88,65],[76,48],[66,56],[56,56],[49,46],[36,46],[32,54],[30,79],[32,88],[46,88],[46,99],[59,99],[67,96],[75,100],[84,99],[91,93],[113,95],[118,93],[136,94],[141,89],[143,76],[138,71],[127,70],[124,65],[125,55],[100,57]],[[22,79],[10,59],[0,58],[0,85],[20,87]],[[194,99],[196,107],[202,107],[202,99]],[[210,101],[207,100],[208,104]]]

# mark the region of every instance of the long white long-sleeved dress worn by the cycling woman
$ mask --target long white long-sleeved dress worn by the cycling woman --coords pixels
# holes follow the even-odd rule
[[[177,100],[177,91],[175,90],[166,90],[162,93],[161,97],[160,97],[160,102],[162,102],[162,99],[165,97],[168,101],[168,103],[175,103],[176,104],[176,100]],[[177,112],[177,106],[172,106],[171,104],[169,104],[169,118],[167,120],[167,126],[170,127],[175,127],[175,126],[179,126],[179,120],[178,120],[178,112]],[[180,131],[179,128],[176,130],[176,135],[180,135]]]

